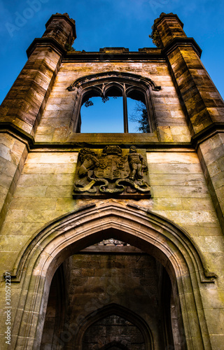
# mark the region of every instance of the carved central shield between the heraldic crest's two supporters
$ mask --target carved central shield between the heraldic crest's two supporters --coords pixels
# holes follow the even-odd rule
[[[99,167],[94,169],[94,175],[103,179],[126,179],[130,175],[127,155],[107,155],[99,158]]]

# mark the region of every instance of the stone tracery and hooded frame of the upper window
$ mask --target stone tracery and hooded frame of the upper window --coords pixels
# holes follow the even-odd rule
[[[97,89],[99,96],[105,97],[106,91],[113,85],[121,91],[124,101],[123,104],[125,105],[127,105],[126,97],[129,91],[139,90],[144,94],[151,132],[155,129],[156,116],[153,100],[151,98],[151,90],[159,91],[161,87],[157,86],[150,78],[139,76],[138,74],[109,71],[80,77],[67,87],[67,90],[74,91],[75,94],[75,104],[71,120],[72,132],[79,132],[80,108],[83,104],[83,98],[87,96],[87,93],[90,93],[91,90],[94,91]],[[124,122],[127,124],[127,111],[125,111],[125,109]],[[125,132],[127,132],[127,129],[128,127],[126,125]]]

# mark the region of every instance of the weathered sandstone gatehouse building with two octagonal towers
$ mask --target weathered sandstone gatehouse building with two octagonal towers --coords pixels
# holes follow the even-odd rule
[[[152,35],[78,52],[57,13],[27,50],[1,105],[1,349],[223,349],[223,99],[177,15]],[[111,97],[124,129],[82,132]]]

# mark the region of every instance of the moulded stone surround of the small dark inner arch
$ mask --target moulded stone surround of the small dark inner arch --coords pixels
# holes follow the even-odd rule
[[[107,316],[111,315],[120,316],[121,318],[124,318],[125,320],[130,321],[130,323],[132,323],[133,325],[137,326],[137,328],[139,328],[141,334],[144,337],[146,350],[154,349],[153,335],[146,321],[144,321],[144,319],[141,318],[141,316],[136,314],[131,309],[127,309],[126,307],[123,307],[116,303],[108,304],[104,307],[101,307],[100,309],[91,312],[89,315],[87,315],[87,317],[83,319],[82,323],[78,325],[78,332],[77,335],[75,335],[74,339],[74,344],[77,344],[77,349],[80,349],[81,342],[83,340],[83,335],[85,334],[87,328],[89,328],[92,324],[101,320],[102,318],[106,318]],[[104,347],[102,349],[104,349]],[[107,348],[105,347],[105,349]]]

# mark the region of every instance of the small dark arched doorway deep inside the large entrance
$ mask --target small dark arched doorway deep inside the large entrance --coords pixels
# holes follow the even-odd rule
[[[152,349],[146,322],[118,304],[106,305],[87,316],[79,333],[76,340],[81,339],[81,349]]]

